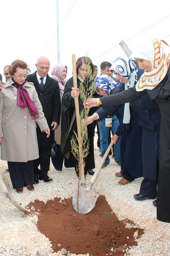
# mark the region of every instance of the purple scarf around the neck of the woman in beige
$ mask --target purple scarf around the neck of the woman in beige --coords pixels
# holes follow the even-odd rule
[[[15,86],[17,87],[18,96],[17,96],[17,106],[20,106],[20,108],[25,109],[28,106],[30,116],[32,120],[35,120],[39,117],[38,110],[36,108],[36,105],[30,98],[29,93],[25,88],[23,88],[23,84],[25,84],[27,81],[24,81],[22,84],[19,84],[14,81],[13,77],[11,80],[15,83]]]

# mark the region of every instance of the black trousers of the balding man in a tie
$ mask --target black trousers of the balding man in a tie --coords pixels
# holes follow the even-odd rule
[[[34,160],[34,175],[47,175],[50,169],[50,157],[52,146],[39,146],[39,158]],[[40,169],[38,166],[40,165]]]

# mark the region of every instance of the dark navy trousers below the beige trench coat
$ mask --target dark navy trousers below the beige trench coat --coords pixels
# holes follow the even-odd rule
[[[13,188],[32,185],[34,183],[33,160],[28,162],[8,162]]]

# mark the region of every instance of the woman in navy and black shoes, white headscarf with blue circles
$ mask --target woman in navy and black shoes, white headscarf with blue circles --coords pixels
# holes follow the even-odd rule
[[[137,84],[137,76],[142,70],[137,69],[134,62],[126,61],[123,57],[117,57],[111,67],[116,78],[124,82],[125,90]],[[157,170],[159,162],[159,138],[160,138],[160,111],[157,103],[153,103],[148,95],[130,103],[125,103],[124,123],[130,121],[130,105],[140,116],[139,124],[142,126],[142,162],[143,181],[139,194],[134,195],[135,200],[154,199],[157,191]],[[118,175],[117,173],[116,175]]]

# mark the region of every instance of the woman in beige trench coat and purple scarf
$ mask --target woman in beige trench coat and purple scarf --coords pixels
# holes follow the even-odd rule
[[[39,157],[36,122],[50,136],[42,106],[33,83],[27,82],[27,63],[15,60],[9,67],[11,78],[0,95],[1,159],[8,161],[13,188],[34,190],[33,160]],[[36,121],[35,121],[36,119]]]

